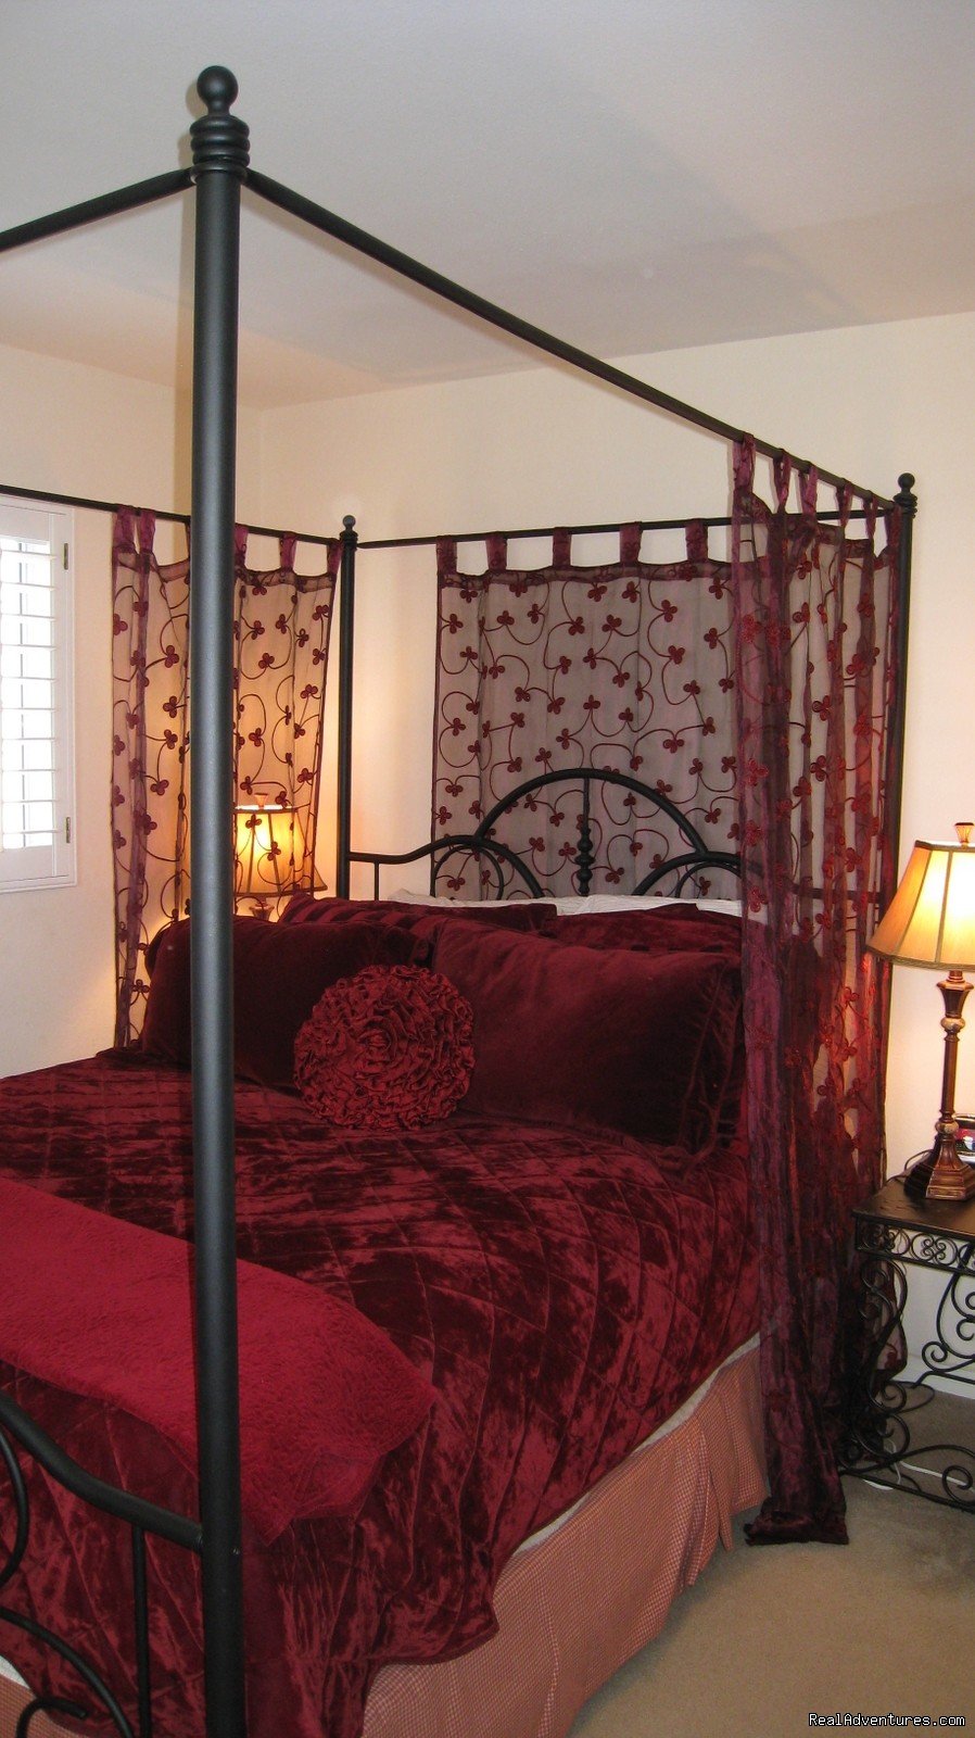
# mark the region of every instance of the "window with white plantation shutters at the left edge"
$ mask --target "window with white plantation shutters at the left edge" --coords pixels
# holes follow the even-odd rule
[[[0,495],[0,892],[75,879],[71,514]]]

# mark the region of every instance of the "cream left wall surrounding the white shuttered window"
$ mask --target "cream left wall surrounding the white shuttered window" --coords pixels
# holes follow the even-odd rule
[[[0,348],[0,485],[186,509],[188,414],[174,393]],[[240,419],[242,502],[255,501],[257,426]],[[250,511],[250,509],[245,509]],[[255,513],[254,513],[255,516]],[[115,1003],[108,824],[111,520],[75,518],[78,881],[0,893],[0,1074],[111,1043]]]

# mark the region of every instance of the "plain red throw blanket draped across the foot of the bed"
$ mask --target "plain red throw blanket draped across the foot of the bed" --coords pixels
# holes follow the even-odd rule
[[[0,1357],[108,1401],[196,1465],[191,1246],[0,1177]],[[365,1316],[236,1264],[243,1512],[266,1543],[348,1514],[434,1390]]]

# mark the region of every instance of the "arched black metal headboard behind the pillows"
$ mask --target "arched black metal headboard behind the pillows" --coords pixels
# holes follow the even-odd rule
[[[664,796],[662,791],[655,791],[652,786],[641,784],[640,779],[633,779],[629,773],[612,772],[610,768],[601,766],[565,766],[556,772],[539,773],[535,779],[527,779],[523,784],[514,786],[513,791],[509,791],[499,803],[494,805],[492,810],[488,810],[474,833],[448,833],[441,838],[429,839],[426,845],[419,845],[412,852],[349,852],[349,862],[372,864],[372,888],[375,899],[379,899],[379,878],[384,867],[391,864],[414,864],[429,857],[429,886],[433,892],[440,871],[452,857],[457,855],[473,855],[487,860],[494,876],[495,899],[504,899],[506,895],[506,867],[518,878],[521,888],[532,899],[542,899],[546,888],[539,878],[532,872],[532,869],[528,869],[521,857],[511,850],[511,846],[494,838],[494,829],[502,815],[514,808],[525,796],[530,796],[546,786],[556,784],[582,786],[582,812],[579,815],[575,852],[572,853],[575,885],[580,895],[589,892],[596,859],[593,848],[589,794],[593,784],[620,786],[641,801],[650,803],[652,808],[667,817],[681,841],[686,845],[686,850],[680,855],[667,857],[666,862],[655,864],[631,890],[633,893],[648,893],[667,876],[676,876],[674,892],[680,895],[688,881],[692,881],[702,869],[725,869],[735,876],[740,876],[742,872],[739,853],[711,850],[697,827],[674,803],[671,803],[667,796]]]

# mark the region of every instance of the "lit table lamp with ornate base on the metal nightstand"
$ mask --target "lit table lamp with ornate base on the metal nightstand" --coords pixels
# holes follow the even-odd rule
[[[944,996],[942,1109],[930,1154],[907,1173],[907,1191],[935,1201],[966,1201],[975,1194],[975,1164],[958,1156],[954,1079],[958,1038],[965,1027],[961,1010],[972,984],[963,975],[975,968],[975,846],[973,822],[956,822],[958,845],[928,845],[918,839],[904,879],[867,947],[909,966],[947,968],[939,989]]]

